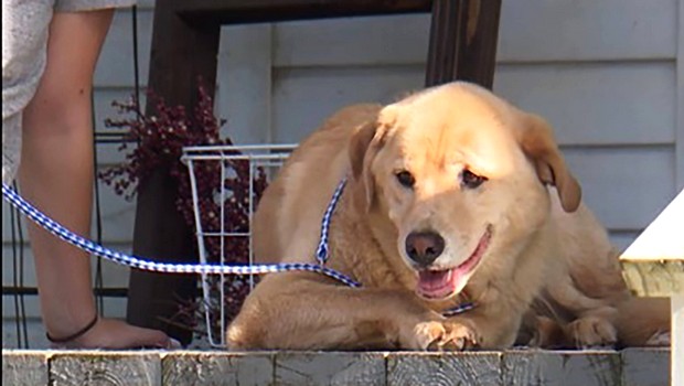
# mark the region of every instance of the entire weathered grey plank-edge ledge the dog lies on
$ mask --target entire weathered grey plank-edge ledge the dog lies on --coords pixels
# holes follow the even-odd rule
[[[670,350],[424,352],[2,350],[3,385],[669,385]]]

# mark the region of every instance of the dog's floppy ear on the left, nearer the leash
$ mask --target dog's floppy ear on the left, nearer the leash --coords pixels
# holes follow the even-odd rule
[[[349,158],[352,168],[352,176],[357,182],[357,200],[365,202],[365,211],[368,212],[374,204],[375,181],[371,174],[371,163],[381,148],[383,141],[383,125],[376,120],[361,125],[352,135],[349,143]]]

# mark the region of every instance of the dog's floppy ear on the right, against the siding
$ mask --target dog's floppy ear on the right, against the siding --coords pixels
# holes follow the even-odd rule
[[[539,180],[556,186],[565,212],[575,212],[581,200],[581,187],[558,150],[551,125],[536,115],[526,114],[516,132],[521,147],[534,162]]]

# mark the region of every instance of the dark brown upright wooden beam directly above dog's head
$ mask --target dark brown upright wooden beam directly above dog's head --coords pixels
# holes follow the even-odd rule
[[[492,88],[501,0],[435,0],[426,86],[468,81]]]

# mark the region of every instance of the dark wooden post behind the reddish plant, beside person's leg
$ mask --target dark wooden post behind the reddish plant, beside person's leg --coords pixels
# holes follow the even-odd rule
[[[183,105],[192,111],[201,77],[214,95],[220,25],[189,24],[169,1],[154,9],[152,53],[148,87],[169,106]],[[148,100],[147,114],[154,114]],[[175,207],[178,185],[163,167],[138,187],[133,253],[169,262],[196,262],[194,230],[185,225]],[[192,340],[190,331],[162,322],[179,311],[179,301],[194,300],[196,277],[132,270],[129,282],[128,322],[160,329],[181,343]]]

